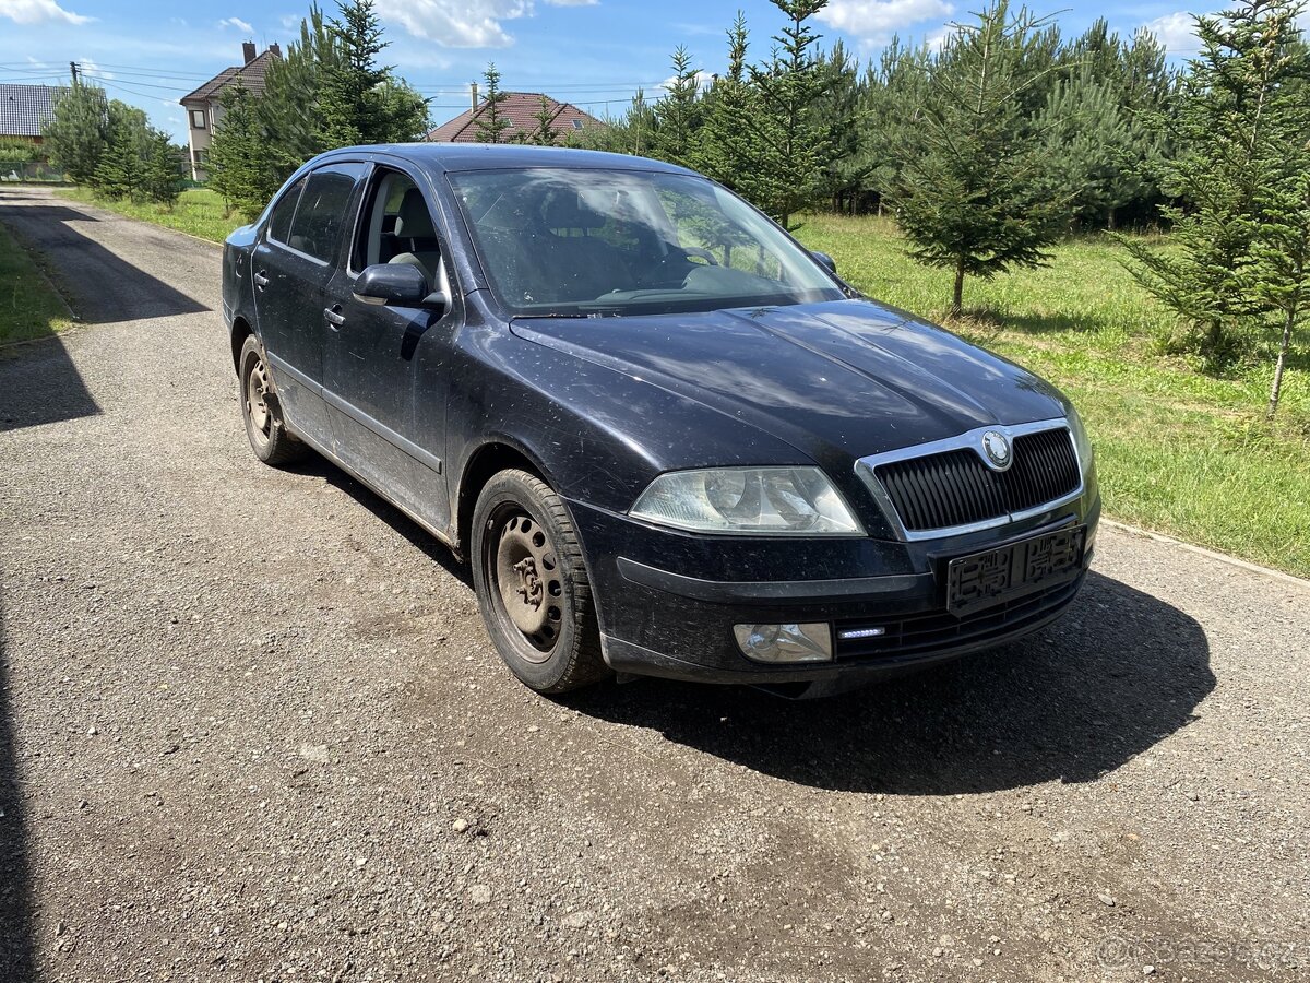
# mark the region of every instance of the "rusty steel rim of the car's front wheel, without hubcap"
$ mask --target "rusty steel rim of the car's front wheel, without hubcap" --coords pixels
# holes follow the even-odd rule
[[[525,512],[510,515],[500,526],[493,575],[500,611],[527,642],[515,646],[519,654],[528,662],[545,662],[559,641],[563,582],[545,530]]]

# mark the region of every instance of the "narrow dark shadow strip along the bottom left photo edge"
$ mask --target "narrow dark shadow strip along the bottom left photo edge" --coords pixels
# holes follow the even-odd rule
[[[0,609],[0,979],[33,983],[35,927],[8,659]]]

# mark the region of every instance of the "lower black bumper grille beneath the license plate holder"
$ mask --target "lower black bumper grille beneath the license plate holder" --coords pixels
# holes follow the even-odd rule
[[[959,617],[946,611],[934,611],[927,615],[882,621],[870,619],[838,621],[836,657],[891,659],[929,655],[963,645],[985,645],[988,641],[1022,632],[1064,609],[1077,595],[1081,582],[1081,571],[1077,571],[1074,578],[1065,583]],[[874,628],[882,628],[884,633],[872,638],[841,637],[842,632]]]

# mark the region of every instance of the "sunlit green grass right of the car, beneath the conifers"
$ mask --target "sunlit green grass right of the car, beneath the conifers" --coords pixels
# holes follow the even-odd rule
[[[799,237],[869,295],[931,320],[950,273],[905,256],[895,225],[810,216]],[[1056,248],[1049,267],[969,279],[954,330],[1061,387],[1096,447],[1106,512],[1179,539],[1310,575],[1310,366],[1294,360],[1279,418],[1264,421],[1271,363],[1224,377],[1157,354],[1172,321],[1098,236]]]

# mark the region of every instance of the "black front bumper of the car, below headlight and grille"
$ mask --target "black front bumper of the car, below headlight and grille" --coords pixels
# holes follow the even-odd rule
[[[1077,596],[1094,553],[1100,501],[1082,498],[1011,526],[950,539],[888,543],[783,540],[658,530],[570,502],[587,553],[605,661],[631,675],[703,683],[858,685],[1020,638]],[[1011,602],[956,616],[946,565],[1065,526],[1085,526],[1081,562]],[[769,574],[781,574],[777,579]],[[738,624],[828,623],[833,659],[764,663],[738,646]],[[884,634],[842,640],[842,629]]]

